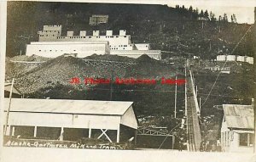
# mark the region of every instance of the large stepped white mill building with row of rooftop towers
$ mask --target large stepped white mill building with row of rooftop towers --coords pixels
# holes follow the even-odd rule
[[[119,35],[113,35],[113,31],[106,31],[104,36],[100,36],[100,31],[93,31],[92,36],[86,33],[80,31],[79,36],[74,36],[73,31],[67,31],[67,36],[62,36],[61,25],[44,25],[43,31],[38,31],[39,41],[26,46],[26,55],[55,58],[74,54],[84,58],[91,54],[117,54],[138,58],[148,54],[150,58],[160,59],[160,50],[150,50],[148,43],[131,43],[131,35],[126,35],[125,30],[120,30]]]

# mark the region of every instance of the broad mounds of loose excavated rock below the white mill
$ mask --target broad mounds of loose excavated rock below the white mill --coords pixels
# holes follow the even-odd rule
[[[13,59],[28,59],[27,57]],[[30,58],[31,59],[31,58]],[[85,87],[84,78],[145,78],[160,79],[165,76],[172,77],[175,69],[171,64],[164,64],[160,61],[150,59],[148,55],[142,55],[138,59],[129,59],[116,55],[92,55],[85,59],[113,60],[117,62],[135,63],[128,68],[112,67],[111,65],[97,64],[92,66],[86,64],[84,59],[73,57],[57,57],[49,59],[40,65],[14,64],[9,60],[6,62],[6,79],[16,78],[17,87],[23,93],[38,91],[44,87],[55,87],[56,85],[71,86],[71,79],[78,77],[81,81],[77,87]]]

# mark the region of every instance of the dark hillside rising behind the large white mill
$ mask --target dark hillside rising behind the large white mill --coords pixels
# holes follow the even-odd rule
[[[218,53],[231,53],[250,27],[224,21],[197,20],[200,14],[195,8],[189,11],[188,8],[169,8],[166,5],[9,2],[10,7],[7,31],[9,57],[20,53],[20,49],[25,53],[27,43],[38,41],[37,33],[43,25],[62,25],[62,35],[66,35],[67,30],[74,31],[75,35],[82,30],[88,35],[93,30],[100,30],[104,35],[106,30],[118,34],[119,30],[125,29],[132,42],[149,42],[152,49],[172,51],[176,55],[193,53],[203,59],[215,59]],[[91,14],[108,14],[108,24],[89,25]],[[248,32],[234,54],[253,55],[251,33]],[[164,53],[163,58],[168,55]]]

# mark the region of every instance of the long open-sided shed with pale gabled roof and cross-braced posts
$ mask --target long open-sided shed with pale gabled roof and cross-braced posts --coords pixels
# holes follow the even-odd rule
[[[9,99],[4,102],[7,115]],[[132,102],[13,98],[7,130],[6,136],[25,139],[127,142],[137,137],[137,118]]]

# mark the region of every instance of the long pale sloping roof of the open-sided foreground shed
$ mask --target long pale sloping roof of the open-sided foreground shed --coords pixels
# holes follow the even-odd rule
[[[9,98],[4,100],[5,110]],[[12,98],[10,111],[82,115],[124,115],[133,102]]]

